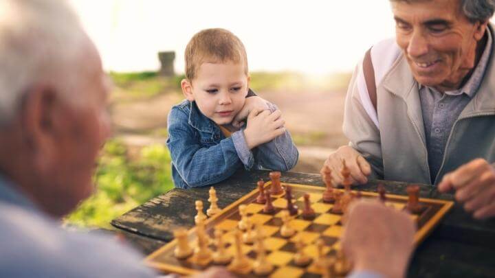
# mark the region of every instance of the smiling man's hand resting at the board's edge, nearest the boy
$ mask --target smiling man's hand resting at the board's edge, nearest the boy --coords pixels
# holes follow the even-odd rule
[[[325,161],[323,167],[327,166],[331,170],[333,182],[342,184],[344,178],[340,174],[342,161],[346,162],[351,172],[351,181],[353,184],[363,184],[368,182],[368,176],[371,174],[371,166],[362,155],[350,146],[342,146],[335,152],[332,152]]]

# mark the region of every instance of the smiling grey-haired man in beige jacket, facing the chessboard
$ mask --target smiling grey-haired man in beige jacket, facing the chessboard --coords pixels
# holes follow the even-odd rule
[[[349,146],[325,165],[438,185],[475,218],[495,216],[494,0],[391,0],[396,38],[371,49],[345,104]],[[371,78],[370,78],[371,76]]]

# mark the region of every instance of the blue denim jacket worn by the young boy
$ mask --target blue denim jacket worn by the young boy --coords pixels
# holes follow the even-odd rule
[[[270,110],[276,106],[270,104]],[[195,102],[184,100],[168,114],[168,139],[175,187],[211,185],[246,170],[288,171],[298,160],[298,150],[288,131],[249,150],[243,130],[225,138],[217,124],[204,116]]]

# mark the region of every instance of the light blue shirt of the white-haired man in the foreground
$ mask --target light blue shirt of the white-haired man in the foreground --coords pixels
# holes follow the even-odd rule
[[[106,235],[66,231],[0,176],[0,277],[155,277]]]

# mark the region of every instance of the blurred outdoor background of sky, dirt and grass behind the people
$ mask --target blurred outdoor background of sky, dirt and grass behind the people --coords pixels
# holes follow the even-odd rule
[[[364,52],[394,36],[388,0],[70,0],[113,79],[113,138],[95,175],[96,194],[66,219],[110,228],[111,219],[173,188],[166,117],[183,99],[184,49],[222,27],[244,43],[251,88],[276,104],[298,146],[292,171],[318,173],[347,143],[344,97]]]

